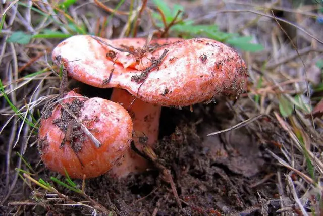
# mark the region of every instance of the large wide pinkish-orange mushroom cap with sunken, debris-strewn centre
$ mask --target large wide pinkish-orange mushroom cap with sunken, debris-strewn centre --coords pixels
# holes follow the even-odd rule
[[[163,106],[187,106],[245,90],[247,68],[233,48],[207,38],[158,41],[152,40],[150,45],[159,46],[138,57],[118,49],[143,47],[144,38],[97,40],[77,35],[61,42],[52,58],[76,80],[100,88],[120,87]]]

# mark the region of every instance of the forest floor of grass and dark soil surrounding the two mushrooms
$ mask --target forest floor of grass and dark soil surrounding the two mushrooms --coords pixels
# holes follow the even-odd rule
[[[195,25],[191,32],[175,25],[169,36],[222,38],[238,50],[248,66],[248,91],[235,103],[219,97],[181,110],[163,107],[154,151],[171,181],[152,164],[122,180],[107,174],[73,179],[72,190],[62,184],[64,176],[45,168],[37,149],[41,111],[59,94],[51,51],[74,34],[128,36],[136,16],[122,12],[133,6],[138,15],[145,1],[108,1],[105,9],[62,2],[65,8],[55,1],[0,6],[6,14],[0,25],[0,214],[323,215],[323,109],[311,112],[323,96],[322,5],[164,1],[173,10],[181,5],[182,18]],[[149,16],[156,12],[153,1],[144,9],[137,37],[163,28]],[[111,94],[74,80],[68,87],[87,97]]]

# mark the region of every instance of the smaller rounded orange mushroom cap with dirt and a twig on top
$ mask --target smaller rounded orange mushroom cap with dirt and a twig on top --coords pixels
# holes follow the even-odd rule
[[[129,149],[133,124],[119,104],[102,98],[86,99],[70,91],[63,103],[101,143],[96,147],[80,125],[57,105],[42,117],[38,149],[43,163],[52,171],[71,178],[97,177],[110,170]],[[46,113],[46,112],[45,112]]]

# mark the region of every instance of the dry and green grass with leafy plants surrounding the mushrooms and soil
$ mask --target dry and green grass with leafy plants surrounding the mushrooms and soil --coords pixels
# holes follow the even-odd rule
[[[147,36],[153,32],[164,37],[208,37],[239,50],[248,64],[250,83],[248,92],[233,107],[234,112],[244,117],[240,122],[259,114],[268,116],[268,121],[274,122],[281,131],[281,137],[267,140],[266,125],[260,119],[244,125],[254,130],[262,147],[278,164],[273,180],[277,182],[280,193],[280,210],[299,210],[305,215],[322,213],[319,177],[323,175],[320,156],[323,121],[321,118],[305,118],[305,115],[311,113],[315,101],[321,100],[323,95],[323,47],[320,43],[322,38],[319,38],[323,32],[322,25],[315,21],[321,16],[319,13],[323,3],[316,1],[311,6],[301,3],[298,8],[281,8],[282,11],[299,16],[291,21],[295,23],[294,27],[300,29],[297,47],[285,38],[277,25],[280,20],[276,22],[273,19],[271,9],[279,8],[274,4],[260,6],[228,1],[218,14],[209,11],[203,18],[194,16],[191,12],[192,6],[188,3],[170,5],[154,0],[150,2],[153,7],[142,7],[137,3],[134,0],[120,1],[117,5],[106,3],[106,8],[103,9],[86,1],[71,0],[60,3],[18,1],[6,4],[7,8],[3,9],[0,21],[0,31],[6,39],[0,44],[4,47],[0,53],[0,63],[4,66],[0,73],[0,113],[3,119],[0,136],[6,140],[1,147],[7,151],[4,160],[6,172],[3,172],[6,173],[6,181],[3,184],[10,189],[3,195],[2,204],[11,200],[10,205],[15,206],[18,213],[21,209],[11,198],[11,193],[16,185],[24,185],[36,194],[28,203],[42,203],[50,207],[60,205],[60,201],[64,200],[64,205],[82,206],[90,213],[114,213],[85,193],[85,181],[80,187],[68,174],[65,179],[60,176],[49,176],[46,179],[40,177],[43,170],[42,166],[37,166],[39,158],[25,158],[24,154],[37,151],[35,143],[40,110],[58,94],[62,68],[53,66],[49,55],[59,41],[76,34],[115,38]],[[96,6],[95,11],[82,9],[90,4]],[[225,7],[226,4],[233,4],[231,7],[236,7],[237,10],[229,10]],[[240,6],[247,9],[241,9]],[[105,17],[102,18],[100,14]],[[138,18],[142,18],[141,22]],[[146,27],[147,19],[151,22],[150,29]],[[119,33],[111,32],[114,23],[118,22],[123,24],[119,27]],[[268,27],[264,27],[264,24]],[[236,26],[239,28],[235,28]],[[305,52],[306,48],[310,51]],[[295,57],[281,61],[292,55]],[[37,59],[33,59],[35,57]],[[6,62],[6,58],[11,58],[11,61]],[[25,67],[22,68],[23,66]],[[319,77],[319,82],[310,80],[312,74]],[[307,92],[307,87],[310,92]],[[248,111],[249,108],[252,112]],[[10,136],[13,138],[7,138]],[[270,142],[279,147],[268,146],[267,143]],[[15,151],[20,153],[15,155]],[[16,167],[14,174],[12,167]],[[20,184],[17,183],[18,177],[22,181]],[[53,194],[59,197],[53,199],[56,202],[44,198],[45,195],[55,197]],[[70,198],[75,194],[80,195],[82,201]],[[311,201],[309,207],[308,200]],[[290,206],[294,206],[294,209],[290,209]]]

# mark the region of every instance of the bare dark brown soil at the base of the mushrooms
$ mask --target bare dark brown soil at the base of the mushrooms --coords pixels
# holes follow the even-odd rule
[[[279,206],[262,202],[275,199],[274,178],[258,186],[257,182],[277,168],[256,138],[245,128],[206,137],[234,122],[224,101],[219,103],[223,104],[196,105],[193,113],[167,108],[162,112],[155,153],[158,163],[172,173],[182,209],[170,184],[154,168],[121,181],[107,175],[92,179],[87,193],[120,215],[274,215]]]

